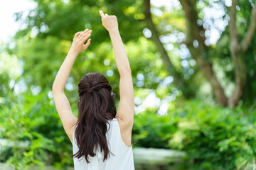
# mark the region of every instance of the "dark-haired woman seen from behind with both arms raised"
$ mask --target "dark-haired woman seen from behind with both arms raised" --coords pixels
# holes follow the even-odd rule
[[[77,169],[134,169],[132,126],[134,90],[129,60],[118,30],[116,16],[100,11],[102,25],[108,30],[120,74],[120,102],[116,111],[112,87],[100,73],[89,73],[78,84],[78,118],[73,115],[65,84],[75,58],[90,45],[92,30],[75,33],[73,43],[53,83],[53,97],[65,132],[73,144]],[[85,43],[85,41],[87,42]],[[84,44],[85,43],[85,44]]]

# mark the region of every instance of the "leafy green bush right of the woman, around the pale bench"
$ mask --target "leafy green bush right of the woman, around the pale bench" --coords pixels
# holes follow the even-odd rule
[[[256,121],[248,120],[247,114],[242,108],[188,101],[163,117],[152,111],[136,115],[133,140],[139,147],[186,151],[193,159],[191,169],[252,169]]]

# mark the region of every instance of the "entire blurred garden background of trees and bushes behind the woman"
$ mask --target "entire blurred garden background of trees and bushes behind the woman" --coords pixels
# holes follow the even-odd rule
[[[136,169],[256,169],[253,0],[0,1],[0,165],[73,169],[53,81],[73,35],[92,29],[65,86],[119,73],[99,10],[117,16],[134,83]]]

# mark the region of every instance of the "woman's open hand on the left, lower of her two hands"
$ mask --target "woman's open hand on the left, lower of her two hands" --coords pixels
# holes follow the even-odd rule
[[[88,38],[90,38],[90,35],[91,35],[90,33],[92,33],[92,30],[89,30],[89,29],[75,33],[70,51],[73,51],[79,54],[83,50],[86,50],[87,47],[90,45],[90,41],[91,41],[91,39],[87,40]],[[85,44],[86,40],[87,42]]]

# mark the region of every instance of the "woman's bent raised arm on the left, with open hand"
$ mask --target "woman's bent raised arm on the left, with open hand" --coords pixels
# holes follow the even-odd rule
[[[70,51],[68,52],[67,57],[65,57],[65,60],[53,82],[53,98],[55,107],[58,115],[60,116],[60,120],[63,123],[64,130],[71,142],[73,142],[73,130],[75,128],[73,125],[78,119],[73,115],[68,98],[64,94],[64,88],[76,57],[90,45],[90,39],[87,40],[87,38],[90,37],[91,32],[92,30],[86,29],[75,33]],[[87,43],[84,45],[85,40],[87,40]]]

